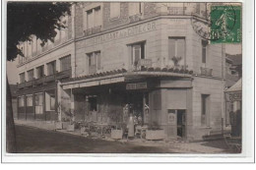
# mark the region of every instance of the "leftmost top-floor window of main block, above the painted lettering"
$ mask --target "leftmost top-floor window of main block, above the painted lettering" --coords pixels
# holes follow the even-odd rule
[[[102,14],[101,14],[100,6],[87,11],[86,15],[87,15],[86,28],[96,28],[102,25],[101,24]]]

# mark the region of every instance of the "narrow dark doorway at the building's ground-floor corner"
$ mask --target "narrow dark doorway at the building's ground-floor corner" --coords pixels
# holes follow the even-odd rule
[[[186,137],[186,110],[177,110],[177,136],[179,138]]]

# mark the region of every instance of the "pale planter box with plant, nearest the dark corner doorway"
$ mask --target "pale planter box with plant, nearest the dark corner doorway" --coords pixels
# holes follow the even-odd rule
[[[163,140],[164,131],[160,129],[158,123],[154,122],[153,125],[146,130],[146,140]]]

